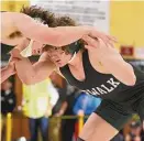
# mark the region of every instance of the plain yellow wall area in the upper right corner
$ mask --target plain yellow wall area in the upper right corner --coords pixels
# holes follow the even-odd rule
[[[144,1],[111,1],[110,33],[120,45],[144,47]]]

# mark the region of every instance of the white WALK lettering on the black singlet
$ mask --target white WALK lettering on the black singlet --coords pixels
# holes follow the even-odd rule
[[[113,91],[119,85],[120,85],[120,82],[114,82],[113,78],[110,78],[109,80],[107,80],[107,86],[104,84],[102,84],[102,85],[100,85],[100,87],[86,89],[84,91],[87,94],[99,96],[99,95],[109,94],[109,93]]]

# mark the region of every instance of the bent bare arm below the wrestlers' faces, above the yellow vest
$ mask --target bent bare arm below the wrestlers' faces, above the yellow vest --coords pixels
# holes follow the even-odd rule
[[[46,79],[55,69],[55,65],[49,59],[46,59],[46,54],[43,53],[34,65],[25,57],[16,61],[15,69],[22,83],[33,85]]]

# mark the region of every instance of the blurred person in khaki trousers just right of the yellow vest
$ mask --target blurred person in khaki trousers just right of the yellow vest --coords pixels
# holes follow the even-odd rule
[[[59,141],[62,119],[56,117],[58,117],[58,112],[66,100],[67,87],[66,87],[66,80],[55,72],[53,72],[49,77],[59,95],[59,99],[53,108],[53,118],[51,118],[51,124],[49,124],[51,126],[49,135],[52,141]]]

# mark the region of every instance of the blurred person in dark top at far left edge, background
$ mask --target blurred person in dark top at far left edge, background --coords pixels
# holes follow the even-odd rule
[[[2,141],[4,141],[5,116],[12,112],[16,105],[15,94],[12,91],[12,83],[7,79],[1,84],[1,130]]]

